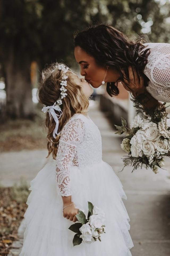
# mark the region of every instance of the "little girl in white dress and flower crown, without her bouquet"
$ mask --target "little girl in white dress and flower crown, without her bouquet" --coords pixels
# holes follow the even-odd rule
[[[42,73],[39,101],[46,113],[49,162],[31,181],[25,232],[19,256],[130,256],[133,242],[122,185],[102,160],[101,135],[89,118],[93,89],[64,64]],[[73,246],[69,229],[76,214],[88,212],[88,201],[105,213],[105,234],[95,241],[85,234]],[[89,240],[90,239],[90,240]]]

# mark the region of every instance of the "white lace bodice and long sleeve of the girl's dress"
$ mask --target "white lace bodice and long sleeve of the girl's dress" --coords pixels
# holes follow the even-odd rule
[[[56,182],[61,196],[71,195],[70,167],[102,160],[101,135],[91,119],[75,114],[62,129],[56,156]]]

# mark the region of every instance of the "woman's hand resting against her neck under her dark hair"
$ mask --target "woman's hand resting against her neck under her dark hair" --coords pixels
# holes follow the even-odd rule
[[[120,81],[122,83],[122,85],[124,86],[124,88],[127,91],[131,92],[134,97],[141,93],[144,93],[145,86],[144,86],[143,76],[139,76],[134,67],[129,66],[128,70],[129,70],[130,82],[126,79],[126,75],[125,75],[124,71],[122,70],[124,77],[125,77],[124,80],[129,85],[129,87],[128,87],[124,82]]]

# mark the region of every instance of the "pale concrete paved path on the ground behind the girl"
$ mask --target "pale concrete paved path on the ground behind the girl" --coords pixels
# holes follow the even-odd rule
[[[114,135],[109,121],[96,107],[90,110],[90,117],[99,127],[102,135],[103,160],[108,162],[120,178],[128,200],[124,200],[130,216],[130,234],[134,242],[133,256],[170,255],[170,179],[168,171],[154,174],[151,170],[122,168],[120,148],[121,138]],[[0,158],[2,183],[7,186],[24,177],[29,182],[46,163],[46,150],[3,153]],[[9,160],[10,159],[10,160]],[[170,166],[169,160],[166,168]],[[169,168],[170,169],[170,168]],[[8,256],[18,255],[23,236],[23,226],[19,228],[21,240],[14,243]],[[102,255],[104,256],[104,255]],[[116,255],[115,255],[116,256]]]

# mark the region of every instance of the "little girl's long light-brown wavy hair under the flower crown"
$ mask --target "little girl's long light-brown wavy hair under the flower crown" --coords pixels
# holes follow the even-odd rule
[[[56,68],[56,64],[54,63],[50,65],[48,68],[45,68],[42,71],[41,82],[38,86],[37,90],[37,98],[39,102],[46,105],[52,106],[54,102],[60,97],[61,93],[61,80],[63,73],[61,70]],[[61,64],[61,63],[59,63]],[[54,71],[53,71],[54,70]],[[67,96],[62,99],[62,105],[60,105],[62,110],[62,115],[60,117],[58,132],[60,132],[63,126],[69,121],[69,119],[75,113],[86,113],[89,105],[88,98],[84,95],[82,86],[75,84],[73,79],[73,73],[71,71],[67,71]],[[58,111],[54,110],[57,114]],[[47,130],[47,148],[48,148],[48,156],[50,153],[53,153],[53,159],[57,156],[58,143],[60,140],[60,134],[56,136],[56,139],[53,137],[53,131],[56,127],[56,122],[53,117],[49,118],[49,113],[46,112],[45,115],[45,128]],[[46,158],[47,158],[46,157]]]

